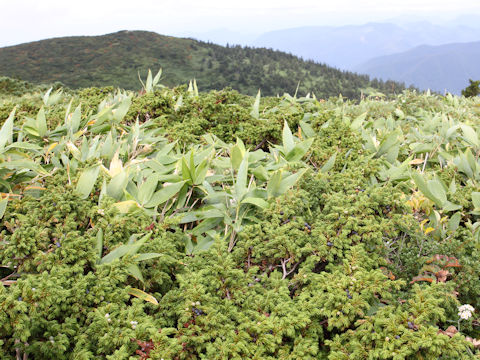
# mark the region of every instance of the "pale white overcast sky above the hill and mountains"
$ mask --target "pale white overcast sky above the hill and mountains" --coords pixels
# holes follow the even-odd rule
[[[479,0],[0,0],[0,47],[69,35],[151,30],[165,35],[219,28],[245,34],[346,25],[399,15],[412,20],[480,14]]]

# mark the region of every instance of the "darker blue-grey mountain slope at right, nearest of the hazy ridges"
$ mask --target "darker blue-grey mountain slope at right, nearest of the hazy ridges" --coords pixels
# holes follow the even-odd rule
[[[420,89],[460,94],[468,79],[480,79],[480,41],[412,50],[371,59],[356,68],[371,76],[396,79]]]

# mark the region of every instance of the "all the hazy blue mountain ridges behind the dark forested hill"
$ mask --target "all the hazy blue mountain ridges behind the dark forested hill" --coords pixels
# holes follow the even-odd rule
[[[277,49],[342,70],[442,92],[459,94],[469,78],[480,78],[475,62],[480,16],[473,14],[441,25],[399,16],[385,23],[282,29],[253,40],[251,34],[242,37],[222,30],[198,38],[217,43],[228,38],[230,44]]]

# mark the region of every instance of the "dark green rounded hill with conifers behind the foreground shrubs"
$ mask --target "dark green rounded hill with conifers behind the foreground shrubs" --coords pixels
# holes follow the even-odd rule
[[[200,90],[232,87],[246,94],[313,92],[326,98],[358,98],[365,89],[401,92],[403,84],[371,81],[366,75],[304,61],[280,51],[223,47],[147,31],[41,40],[0,48],[0,75],[34,83],[60,81],[73,88],[113,85],[136,90],[137,73],[163,68],[162,84],[176,86],[196,78]]]

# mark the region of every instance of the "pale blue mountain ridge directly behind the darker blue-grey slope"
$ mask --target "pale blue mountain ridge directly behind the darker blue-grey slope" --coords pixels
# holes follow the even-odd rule
[[[265,33],[252,45],[290,52],[340,69],[354,70],[357,65],[371,58],[407,51],[422,44],[440,45],[479,39],[478,28],[439,26],[423,21],[401,26],[368,23],[284,29]]]

